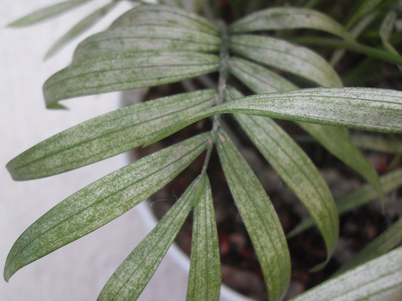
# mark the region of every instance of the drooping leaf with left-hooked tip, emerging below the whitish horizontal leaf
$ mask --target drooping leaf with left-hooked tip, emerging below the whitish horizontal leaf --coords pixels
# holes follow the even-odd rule
[[[236,119],[312,216],[324,237],[328,262],[338,241],[339,220],[323,177],[296,142],[271,118],[239,114]]]

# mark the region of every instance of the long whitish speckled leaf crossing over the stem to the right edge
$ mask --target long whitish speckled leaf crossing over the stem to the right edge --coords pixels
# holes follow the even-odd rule
[[[251,95],[184,119],[147,145],[202,118],[225,113],[402,133],[402,92],[375,88],[312,88]]]

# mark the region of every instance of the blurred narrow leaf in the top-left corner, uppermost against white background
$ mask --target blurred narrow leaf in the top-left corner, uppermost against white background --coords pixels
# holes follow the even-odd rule
[[[39,9],[13,23],[8,24],[8,26],[27,26],[34,23],[41,22],[43,20],[49,19],[51,17],[57,16],[65,11],[72,9],[78,5],[84,4],[90,0],[70,0],[55,5]]]

